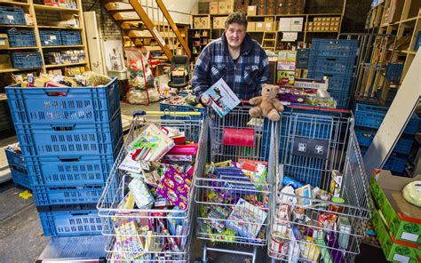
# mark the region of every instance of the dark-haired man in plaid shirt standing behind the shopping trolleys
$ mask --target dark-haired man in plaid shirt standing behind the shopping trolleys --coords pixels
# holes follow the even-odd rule
[[[208,44],[200,54],[193,72],[193,88],[198,100],[203,92],[220,78],[224,79],[240,100],[260,96],[262,84],[269,82],[269,60],[258,42],[246,33],[247,18],[240,12],[228,16],[220,38]],[[202,101],[202,100],[201,100]],[[202,101],[203,104],[206,101]],[[244,111],[247,115],[248,111]],[[211,161],[232,158],[241,147],[222,145],[223,127],[241,128],[248,122],[244,116],[226,116],[220,119],[211,114]]]

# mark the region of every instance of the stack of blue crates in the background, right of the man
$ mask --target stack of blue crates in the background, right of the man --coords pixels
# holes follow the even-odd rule
[[[328,77],[328,91],[338,100],[337,108],[348,107],[357,51],[358,40],[313,39],[307,76],[316,79]]]

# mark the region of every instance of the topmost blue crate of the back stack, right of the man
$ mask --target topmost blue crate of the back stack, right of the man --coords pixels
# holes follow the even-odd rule
[[[325,58],[355,58],[358,52],[356,39],[313,39],[311,56]]]

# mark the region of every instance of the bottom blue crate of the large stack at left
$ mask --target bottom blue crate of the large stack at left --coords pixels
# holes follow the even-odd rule
[[[45,236],[101,235],[98,211],[40,212],[39,219]]]

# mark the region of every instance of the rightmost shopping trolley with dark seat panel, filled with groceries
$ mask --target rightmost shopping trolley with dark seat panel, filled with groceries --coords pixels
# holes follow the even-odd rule
[[[353,262],[360,252],[369,182],[352,114],[328,114],[282,115],[267,248],[273,261]]]

